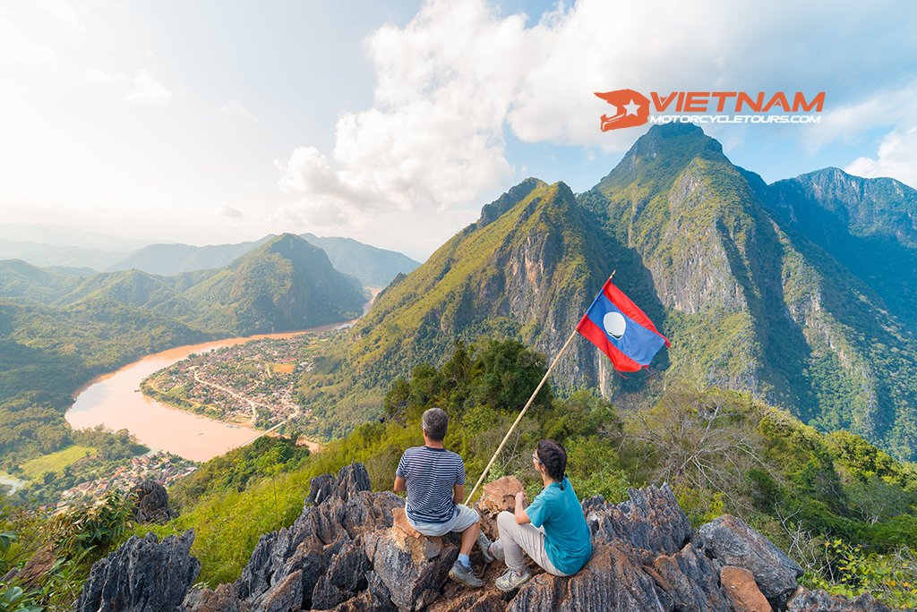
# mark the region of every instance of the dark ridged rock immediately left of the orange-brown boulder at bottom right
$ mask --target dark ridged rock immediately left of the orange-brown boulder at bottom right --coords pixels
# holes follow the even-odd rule
[[[730,612],[729,599],[720,589],[713,561],[691,544],[673,555],[660,555],[646,573],[679,612]]]

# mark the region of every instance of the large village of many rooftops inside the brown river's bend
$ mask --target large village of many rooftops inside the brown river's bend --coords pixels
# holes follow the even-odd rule
[[[302,416],[295,388],[312,368],[311,334],[255,340],[188,358],[143,381],[144,393],[219,421],[270,429]]]

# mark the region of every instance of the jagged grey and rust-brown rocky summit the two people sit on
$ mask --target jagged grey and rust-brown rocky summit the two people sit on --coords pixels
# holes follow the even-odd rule
[[[493,510],[516,483],[485,487],[483,529],[495,535]],[[261,536],[238,580],[193,586],[200,563],[193,531],[156,541],[131,538],[95,563],[76,609],[143,612],[289,612],[370,610],[516,612],[554,610],[699,611],[862,610],[888,607],[797,585],[799,565],[743,520],[725,515],[691,528],[667,485],[630,489],[612,504],[583,502],[593,543],[591,561],[569,577],[535,576],[503,594],[493,587],[503,566],[472,563],[485,582],[470,589],[448,580],[458,537],[426,538],[403,517],[403,499],[370,491],[362,464],[313,479],[303,512],[288,528]]]

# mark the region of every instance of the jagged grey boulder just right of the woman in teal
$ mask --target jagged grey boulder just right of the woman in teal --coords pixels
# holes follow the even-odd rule
[[[593,541],[625,541],[635,549],[675,554],[691,540],[691,524],[668,485],[627,492],[630,499],[617,505],[602,506],[595,498],[585,504]]]

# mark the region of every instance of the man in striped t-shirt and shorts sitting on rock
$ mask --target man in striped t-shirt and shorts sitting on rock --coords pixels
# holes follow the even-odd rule
[[[428,536],[461,533],[458,559],[449,577],[469,586],[483,586],[471,571],[469,553],[481,532],[481,515],[459,504],[465,495],[465,462],[443,448],[448,427],[446,412],[424,412],[424,445],[404,451],[395,471],[395,491],[407,491],[404,514],[415,530]]]

